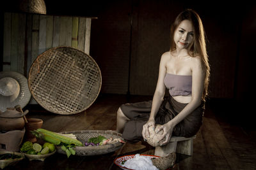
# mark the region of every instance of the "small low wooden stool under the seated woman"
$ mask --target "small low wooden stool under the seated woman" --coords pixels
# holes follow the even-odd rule
[[[169,153],[176,152],[184,155],[193,155],[193,139],[196,136],[190,138],[184,138],[180,136],[172,136],[170,143],[164,146],[156,146],[155,155],[165,157]]]

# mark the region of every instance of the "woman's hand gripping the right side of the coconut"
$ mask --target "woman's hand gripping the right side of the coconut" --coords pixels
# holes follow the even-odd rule
[[[163,124],[156,129],[156,133],[163,130],[163,134],[161,135],[161,138],[159,140],[160,146],[166,145],[170,141],[170,138],[172,137],[173,128],[174,125],[172,125],[171,122],[168,122],[167,124]]]

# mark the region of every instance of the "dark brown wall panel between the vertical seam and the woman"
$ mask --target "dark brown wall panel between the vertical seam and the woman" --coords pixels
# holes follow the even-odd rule
[[[131,94],[154,95],[161,55],[170,50],[173,13],[182,11],[178,6],[170,11],[170,6],[171,1],[143,0],[133,9]]]

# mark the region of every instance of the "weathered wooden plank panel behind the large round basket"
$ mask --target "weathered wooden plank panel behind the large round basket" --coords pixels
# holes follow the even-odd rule
[[[38,55],[56,46],[90,53],[92,18],[4,13],[3,71],[28,77]]]

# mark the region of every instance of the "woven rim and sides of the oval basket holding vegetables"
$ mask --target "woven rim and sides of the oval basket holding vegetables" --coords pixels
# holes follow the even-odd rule
[[[102,131],[102,130],[89,130],[89,131],[70,131],[70,132],[61,132],[61,134],[75,134],[76,138],[81,141],[83,144],[88,141],[90,138],[95,138],[99,135],[104,136],[105,138],[121,138],[122,134],[117,133],[115,131]],[[79,156],[92,156],[92,155],[102,155],[105,153],[115,152],[119,148],[122,147],[122,143],[117,142],[113,144],[101,145],[101,146],[76,146],[74,150],[76,150],[76,155]],[[57,152],[66,154],[63,150],[61,150],[60,146],[57,146]]]

